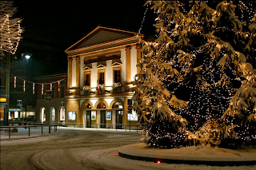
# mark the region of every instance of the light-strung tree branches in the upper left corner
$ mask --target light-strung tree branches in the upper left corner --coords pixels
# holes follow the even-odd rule
[[[22,34],[21,18],[13,18],[17,8],[11,1],[0,2],[0,58],[6,53],[16,53]]]

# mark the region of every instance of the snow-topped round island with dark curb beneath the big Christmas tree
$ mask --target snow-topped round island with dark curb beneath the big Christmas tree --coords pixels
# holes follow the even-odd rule
[[[129,144],[118,148],[118,155],[131,160],[150,161],[157,164],[193,164],[221,167],[256,164],[256,148],[240,151],[209,147],[165,149],[151,148],[146,144]]]

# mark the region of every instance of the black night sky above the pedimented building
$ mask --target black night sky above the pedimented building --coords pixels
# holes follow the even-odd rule
[[[14,1],[14,6],[18,7],[15,17],[23,19],[22,27],[25,29],[16,55],[33,53],[30,62],[36,70],[35,76],[64,72],[64,50],[97,26],[137,32],[146,10],[145,2]],[[149,9],[142,27],[143,34],[154,35],[154,18],[154,12]],[[43,64],[48,65],[48,72]],[[61,66],[57,69],[56,65]]]

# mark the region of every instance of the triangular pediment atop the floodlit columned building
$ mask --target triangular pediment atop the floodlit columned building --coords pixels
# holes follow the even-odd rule
[[[71,45],[70,48],[66,49],[81,49],[90,45],[98,45],[104,42],[112,42],[122,38],[134,37],[136,33],[125,31],[125,30],[117,30],[107,27],[98,26],[94,29],[90,34],[87,34],[80,41],[76,42],[74,45]]]

